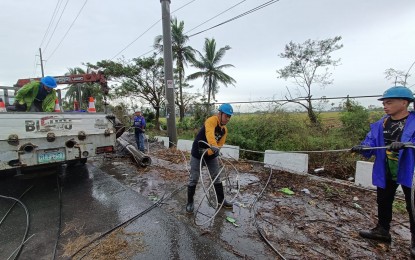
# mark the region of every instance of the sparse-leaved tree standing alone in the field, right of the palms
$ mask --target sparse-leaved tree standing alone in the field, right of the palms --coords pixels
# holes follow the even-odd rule
[[[288,90],[289,97],[285,98],[288,102],[303,106],[313,125],[318,125],[318,120],[312,103],[312,86],[317,84],[324,88],[333,83],[329,67],[338,66],[340,59],[333,59],[331,54],[343,47],[343,44],[338,44],[340,40],[341,37],[336,36],[321,41],[309,39],[301,44],[290,42],[285,45],[284,52],[279,54],[279,57],[288,59],[290,64],[277,70],[278,77],[285,80],[293,78],[297,85],[297,97],[293,97]],[[306,104],[299,98],[304,99]]]

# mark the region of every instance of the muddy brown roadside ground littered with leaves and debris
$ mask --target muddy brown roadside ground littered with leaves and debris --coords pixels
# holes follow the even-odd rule
[[[377,222],[376,194],[373,191],[356,187],[350,181],[271,170],[261,163],[223,160],[226,197],[233,199],[234,207],[233,210],[220,210],[209,221],[216,212],[204,198],[200,183],[195,196],[197,211],[189,215],[184,209],[189,154],[166,149],[157,142],[148,146],[152,164],[146,168],[136,166],[125,154],[107,158],[103,167],[124,168],[124,171],[114,171],[125,172],[115,173],[114,177],[149,200],[157,201],[165,194],[181,189],[163,202],[162,208],[192,225],[200,235],[222,241],[224,247],[237,257],[410,257],[409,221],[401,198],[394,205],[392,243],[370,241],[360,238],[358,231],[372,228]],[[287,194],[289,191],[293,194]]]

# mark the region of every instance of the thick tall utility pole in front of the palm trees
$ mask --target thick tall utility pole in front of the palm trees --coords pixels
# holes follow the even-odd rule
[[[174,106],[173,54],[171,47],[170,0],[160,0],[163,24],[164,86],[166,92],[167,133],[170,144],[177,144],[176,109]]]

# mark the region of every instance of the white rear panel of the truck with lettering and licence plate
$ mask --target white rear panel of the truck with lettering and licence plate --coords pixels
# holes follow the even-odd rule
[[[101,113],[0,113],[0,171],[79,160],[115,144]]]

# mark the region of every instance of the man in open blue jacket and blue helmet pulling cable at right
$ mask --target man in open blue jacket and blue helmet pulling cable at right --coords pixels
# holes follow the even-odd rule
[[[377,187],[378,223],[371,230],[362,230],[364,238],[391,242],[389,233],[392,220],[392,203],[399,185],[405,194],[406,210],[409,213],[411,256],[415,257],[415,222],[411,207],[412,176],[415,168],[415,112],[408,111],[414,101],[410,89],[395,86],[387,89],[379,99],[386,115],[370,127],[366,139],[351,151],[366,158],[375,156],[372,182]],[[370,147],[389,146],[388,149]]]

